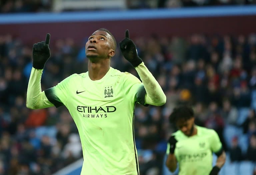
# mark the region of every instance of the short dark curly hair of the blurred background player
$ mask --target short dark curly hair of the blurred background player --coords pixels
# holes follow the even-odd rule
[[[190,106],[179,106],[175,107],[169,116],[169,121],[171,123],[176,122],[178,119],[188,120],[194,117],[194,111]]]

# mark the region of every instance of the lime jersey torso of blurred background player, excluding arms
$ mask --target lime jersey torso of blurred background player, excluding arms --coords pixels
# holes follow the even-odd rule
[[[175,156],[179,162],[179,175],[209,174],[212,166],[212,152],[208,135],[178,138]]]

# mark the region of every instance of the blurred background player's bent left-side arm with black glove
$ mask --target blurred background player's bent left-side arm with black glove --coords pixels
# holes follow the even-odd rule
[[[168,140],[167,152],[166,153],[167,154],[169,153],[169,154],[168,154],[168,157],[167,157],[166,162],[165,162],[165,165],[168,167],[168,169],[171,172],[174,172],[177,169],[177,160],[176,160],[176,157],[175,157],[175,154],[174,154],[176,143],[177,143],[177,140],[175,139],[175,136],[172,135]]]

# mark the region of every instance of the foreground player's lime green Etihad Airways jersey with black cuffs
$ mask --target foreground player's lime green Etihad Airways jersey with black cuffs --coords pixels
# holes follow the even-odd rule
[[[113,68],[96,81],[88,72],[74,74],[45,94],[55,106],[64,104],[76,123],[84,158],[81,175],[139,174],[134,107],[144,105],[146,92],[138,78]]]

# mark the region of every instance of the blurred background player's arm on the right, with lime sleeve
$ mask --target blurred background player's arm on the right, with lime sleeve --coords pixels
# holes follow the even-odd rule
[[[221,169],[221,167],[225,164],[226,161],[226,153],[223,150],[220,138],[218,134],[213,131],[213,134],[210,139],[211,150],[217,155],[217,161],[215,166],[212,168],[209,175],[217,175]]]

